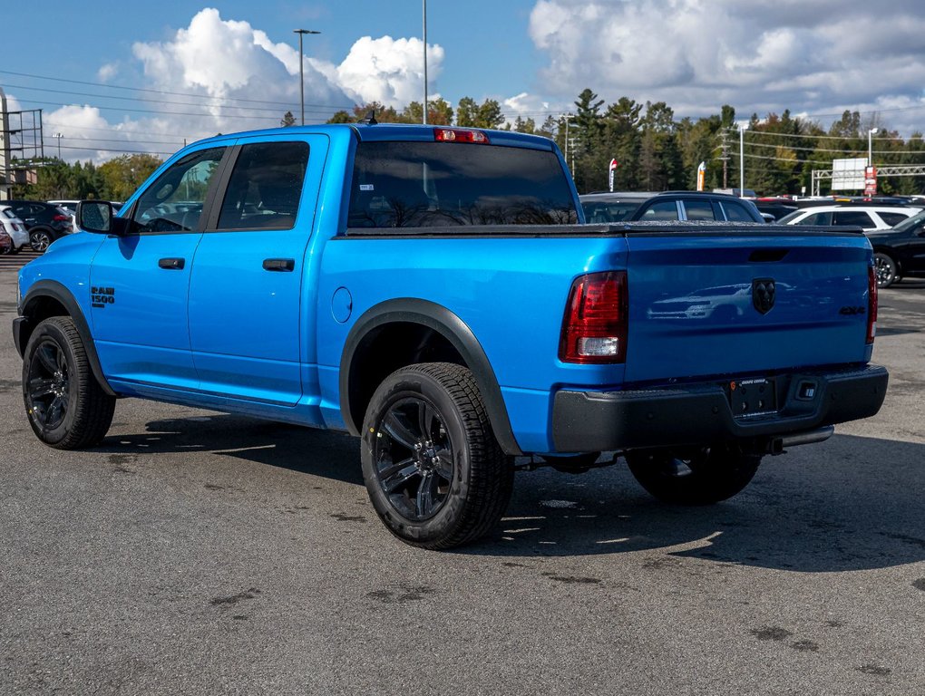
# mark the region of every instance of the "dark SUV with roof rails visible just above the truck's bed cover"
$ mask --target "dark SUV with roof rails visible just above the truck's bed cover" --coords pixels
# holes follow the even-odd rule
[[[624,220],[765,222],[752,201],[725,193],[704,191],[588,193],[579,198],[587,223]]]

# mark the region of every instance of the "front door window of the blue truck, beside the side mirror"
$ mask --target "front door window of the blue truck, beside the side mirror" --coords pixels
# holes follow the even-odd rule
[[[199,226],[209,182],[225,148],[199,150],[175,162],[145,189],[132,220],[140,232],[191,232]]]

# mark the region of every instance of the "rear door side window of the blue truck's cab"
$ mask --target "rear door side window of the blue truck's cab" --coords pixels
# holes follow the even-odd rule
[[[244,145],[228,180],[218,229],[291,229],[307,167],[307,142]]]

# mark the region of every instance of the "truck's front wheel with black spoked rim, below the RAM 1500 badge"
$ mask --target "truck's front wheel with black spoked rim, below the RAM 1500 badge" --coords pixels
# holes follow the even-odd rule
[[[51,317],[35,327],[23,355],[22,396],[32,431],[56,449],[98,445],[116,409],[116,398],[93,376],[70,317]]]

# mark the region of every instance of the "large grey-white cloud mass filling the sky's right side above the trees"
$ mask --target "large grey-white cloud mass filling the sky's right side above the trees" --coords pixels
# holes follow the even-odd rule
[[[859,0],[537,0],[529,31],[553,99],[589,87],[685,116],[722,104],[742,116],[829,115],[921,104],[925,88],[925,15],[914,0],[889,11]],[[910,129],[922,113],[888,120]]]

